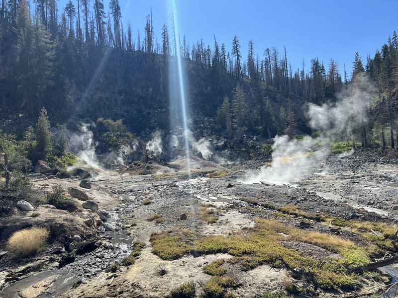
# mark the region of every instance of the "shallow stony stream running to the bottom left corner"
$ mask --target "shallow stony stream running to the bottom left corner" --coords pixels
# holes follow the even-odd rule
[[[0,292],[0,298],[19,298],[18,292],[34,285],[46,278],[57,277],[58,279],[40,298],[59,297],[70,290],[76,282],[84,282],[92,278],[108,266],[121,261],[131,252],[133,239],[128,228],[124,226],[124,219],[119,214],[132,212],[140,203],[134,201],[134,197],[123,195],[121,203],[109,212],[110,219],[106,222],[112,230],[100,233],[101,238],[108,239],[111,244],[101,246],[84,255],[76,255],[73,263],[58,269],[58,262],[53,263],[45,271],[35,273],[6,286]]]

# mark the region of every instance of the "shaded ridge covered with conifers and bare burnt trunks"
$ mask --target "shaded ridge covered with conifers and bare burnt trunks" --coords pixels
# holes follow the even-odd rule
[[[190,45],[185,36],[179,36],[177,49],[173,28],[166,24],[153,28],[152,11],[142,35],[138,31],[133,36],[131,25],[123,25],[118,0],[111,0],[109,7],[102,0],[69,1],[65,7],[57,7],[56,0],[2,0],[0,14],[3,120],[20,113],[27,127],[45,107],[52,122],[68,126],[76,119],[103,117],[123,119],[137,133],[168,129],[170,80],[175,79],[169,66],[179,51],[186,65],[191,109],[198,119],[213,119],[230,137],[244,132],[266,138],[310,133],[302,104],[334,102],[356,75],[365,73],[378,96],[369,106],[369,142],[363,145],[379,142],[395,147],[395,31],[365,63],[355,53],[352,66],[314,58],[309,66],[303,63],[293,69],[286,48],[256,51],[250,40],[248,55],[243,57],[237,36],[231,52],[215,36],[212,45],[202,40]],[[161,32],[161,40],[155,29]]]

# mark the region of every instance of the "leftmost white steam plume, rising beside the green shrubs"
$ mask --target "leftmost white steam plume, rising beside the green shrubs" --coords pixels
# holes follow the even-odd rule
[[[69,147],[91,166],[100,167],[96,154],[96,144],[93,140],[93,132],[89,127],[90,124],[83,123],[80,132],[70,133],[68,136]]]

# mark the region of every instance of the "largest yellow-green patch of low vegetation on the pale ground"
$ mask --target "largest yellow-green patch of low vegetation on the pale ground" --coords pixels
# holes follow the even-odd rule
[[[283,258],[290,267],[311,272],[311,282],[322,289],[354,287],[357,277],[347,269],[346,265],[361,266],[369,263],[370,255],[375,250],[375,245],[372,243],[360,247],[335,235],[301,230],[276,220],[265,219],[256,219],[255,227],[228,236],[203,236],[187,231],[168,231],[153,234],[150,241],[153,253],[163,259],[177,259],[193,252],[228,253],[234,258],[224,262],[237,263],[242,270],[251,270],[262,264],[273,264],[274,267],[278,267],[281,266],[280,259]],[[301,251],[285,247],[283,243],[286,241],[309,243],[331,253],[337,253],[340,257],[323,259],[306,257]],[[222,261],[216,262],[206,265],[203,270],[209,274],[221,274]],[[214,295],[224,293],[225,289],[216,281],[217,279],[212,279],[208,282],[208,293],[215,293]]]

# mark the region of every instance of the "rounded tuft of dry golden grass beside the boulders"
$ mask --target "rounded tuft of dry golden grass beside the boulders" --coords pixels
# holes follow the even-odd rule
[[[14,232],[7,241],[7,248],[18,257],[34,255],[41,251],[50,235],[43,227],[32,227]]]

